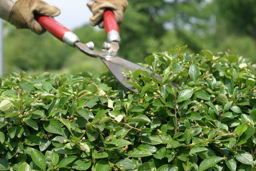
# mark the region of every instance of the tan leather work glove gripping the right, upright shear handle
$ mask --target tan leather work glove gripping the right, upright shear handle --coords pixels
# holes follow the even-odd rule
[[[99,25],[100,28],[104,28],[103,13],[106,8],[112,9],[117,23],[120,25],[123,21],[123,13],[128,7],[127,0],[94,0],[88,2],[87,6],[92,11],[92,16],[90,17],[90,24],[92,26]]]

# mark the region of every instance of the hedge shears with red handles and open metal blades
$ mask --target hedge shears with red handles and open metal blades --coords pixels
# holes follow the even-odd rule
[[[103,15],[104,28],[106,31],[108,42],[104,42],[102,46],[102,52],[97,52],[93,50],[93,42],[88,42],[86,44],[80,42],[79,37],[76,34],[71,32],[71,30],[57,22],[52,17],[37,15],[36,19],[41,26],[43,26],[46,30],[48,30],[52,35],[57,37],[62,42],[68,44],[71,47],[78,48],[81,52],[90,57],[99,57],[110,70],[110,72],[114,75],[114,77],[116,77],[116,79],[130,91],[137,92],[137,89],[125,82],[127,81],[127,78],[123,77],[123,68],[131,71],[141,69],[147,71],[149,75],[152,74],[151,70],[148,70],[135,63],[116,56],[119,50],[121,37],[119,34],[119,26],[116,21],[114,12],[112,12],[111,10],[106,10]],[[162,80],[163,78],[159,74],[154,74],[154,76],[158,80]]]

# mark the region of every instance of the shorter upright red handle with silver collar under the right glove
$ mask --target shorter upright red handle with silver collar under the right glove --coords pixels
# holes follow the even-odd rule
[[[109,42],[121,42],[119,26],[113,11],[107,9],[103,15],[104,27]]]

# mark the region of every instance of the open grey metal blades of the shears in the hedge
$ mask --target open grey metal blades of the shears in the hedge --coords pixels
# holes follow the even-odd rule
[[[123,68],[126,68],[128,70],[137,70],[137,69],[141,69],[141,70],[145,70],[149,73],[149,75],[152,74],[151,70],[148,70],[146,68],[143,68],[135,63],[132,63],[130,61],[127,61],[125,59],[119,58],[119,57],[112,57],[112,58],[107,58],[107,59],[103,59],[102,61],[104,62],[104,64],[107,66],[107,68],[110,70],[110,72],[114,75],[114,77],[116,77],[116,79],[127,89],[129,89],[130,91],[134,91],[134,92],[138,92],[138,90],[131,86],[130,84],[126,83],[125,81],[128,81],[126,79],[126,77],[123,77],[122,73],[123,73]],[[154,75],[158,80],[162,80],[163,77],[159,74],[155,74]]]

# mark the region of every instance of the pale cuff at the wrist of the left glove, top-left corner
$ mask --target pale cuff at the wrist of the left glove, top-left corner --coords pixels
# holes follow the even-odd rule
[[[0,0],[0,18],[7,21],[16,2],[18,0]]]

